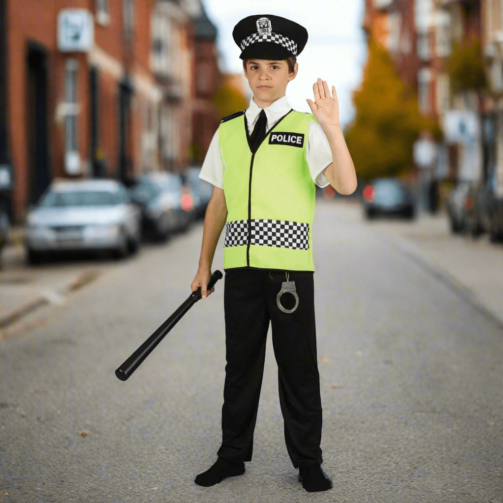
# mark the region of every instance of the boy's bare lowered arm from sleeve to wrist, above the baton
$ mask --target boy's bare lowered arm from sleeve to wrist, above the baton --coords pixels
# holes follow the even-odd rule
[[[214,187],[204,216],[203,242],[201,245],[201,256],[199,258],[199,269],[211,269],[215,249],[226,220],[227,205],[225,204],[224,192],[222,189]]]

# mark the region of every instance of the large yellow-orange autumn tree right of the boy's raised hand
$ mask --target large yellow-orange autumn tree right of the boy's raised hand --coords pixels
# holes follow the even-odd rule
[[[357,114],[345,139],[358,177],[410,172],[420,133],[428,129],[436,139],[442,135],[435,121],[418,112],[415,92],[400,80],[389,53],[372,35],[362,87],[353,97]]]

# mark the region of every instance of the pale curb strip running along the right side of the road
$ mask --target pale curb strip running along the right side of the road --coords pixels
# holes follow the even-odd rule
[[[460,282],[455,276],[451,275],[445,269],[442,269],[431,261],[423,258],[420,250],[418,250],[406,239],[392,235],[389,232],[386,232],[386,235],[389,237],[389,243],[397,248],[400,253],[402,253],[416,265],[428,271],[435,279],[443,283],[451,290],[455,291],[460,298],[468,302],[474,309],[496,323],[496,325],[500,329],[503,329],[503,318],[500,317],[498,313],[493,312],[491,309],[487,308],[478,298],[476,293],[473,292],[469,287]]]

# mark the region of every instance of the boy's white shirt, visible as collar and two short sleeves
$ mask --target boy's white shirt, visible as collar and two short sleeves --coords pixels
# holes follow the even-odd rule
[[[288,104],[286,96],[276,100],[269,107],[260,108],[253,100],[244,112],[248,123],[248,132],[251,134],[255,123],[262,110],[266,112],[267,125],[266,131],[269,131],[292,107]],[[309,134],[307,137],[306,159],[309,166],[309,173],[314,183],[318,187],[326,187],[328,181],[322,171],[332,162],[332,152],[330,145],[321,126],[311,119],[309,122]],[[208,152],[201,167],[199,178],[206,180],[210,184],[223,190],[223,172],[225,161],[218,143],[218,129],[213,135]]]

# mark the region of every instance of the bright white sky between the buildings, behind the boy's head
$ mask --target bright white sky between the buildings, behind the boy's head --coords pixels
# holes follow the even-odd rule
[[[220,70],[243,74],[241,53],[232,38],[239,20],[255,14],[273,14],[304,26],[308,40],[297,57],[299,71],[286,89],[294,110],[311,112],[306,99],[314,101],[313,84],[318,77],[331,90],[336,87],[341,125],[356,114],[353,90],[360,86],[368,57],[361,26],[364,0],[202,0],[206,13],[218,29],[217,47]],[[274,27],[273,27],[274,29]],[[244,76],[243,76],[244,78]],[[249,90],[247,80],[244,81]],[[251,99],[251,91],[248,98]]]

